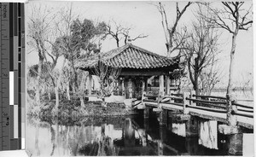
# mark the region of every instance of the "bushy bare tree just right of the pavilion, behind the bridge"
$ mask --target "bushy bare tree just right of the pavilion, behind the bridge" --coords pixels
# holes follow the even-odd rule
[[[199,78],[202,70],[211,65],[212,58],[219,52],[218,38],[216,30],[198,17],[197,22],[193,23],[190,38],[183,45],[186,49],[182,52],[188,63],[189,78],[196,94],[200,93]]]

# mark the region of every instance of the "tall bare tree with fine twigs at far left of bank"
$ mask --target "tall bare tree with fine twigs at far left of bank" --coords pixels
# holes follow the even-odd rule
[[[61,90],[61,77],[63,73],[62,69],[66,63],[66,60],[63,61],[60,70],[55,69],[59,57],[63,55],[63,51],[61,51],[62,49],[59,49],[59,45],[56,44],[56,41],[58,41],[58,37],[63,35],[63,32],[66,33],[68,32],[68,29],[70,29],[69,27],[71,26],[71,22],[73,20],[72,8],[67,9],[67,14],[59,12],[53,16],[47,9],[44,9],[44,11],[41,12],[41,7],[42,6],[37,8],[34,6],[32,8],[34,11],[39,10],[39,16],[32,14],[32,17],[30,18],[31,21],[29,22],[28,32],[28,36],[30,38],[28,43],[38,50],[38,91],[48,88],[47,84],[51,84],[50,86],[53,87],[55,91],[55,108],[58,108],[60,100],[59,90]],[[59,26],[61,22],[56,21],[57,18],[55,17],[57,16],[59,19],[61,19],[61,21],[64,21],[62,22],[61,26]],[[44,73],[44,75],[49,79],[44,79],[44,87],[42,87],[40,80],[45,78],[45,76],[42,76],[42,65],[44,62],[51,62],[52,64],[49,66],[49,68],[47,68],[47,73]]]

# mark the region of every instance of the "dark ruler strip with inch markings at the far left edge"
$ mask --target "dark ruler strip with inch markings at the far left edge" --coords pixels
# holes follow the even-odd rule
[[[9,32],[9,3],[1,3],[2,150],[10,149]]]

